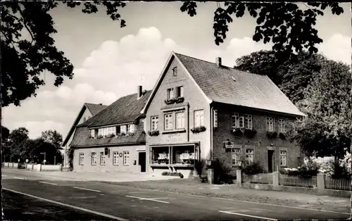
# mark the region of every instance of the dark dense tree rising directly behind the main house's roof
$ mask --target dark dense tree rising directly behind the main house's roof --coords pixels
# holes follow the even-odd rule
[[[297,103],[304,98],[306,87],[320,72],[322,63],[327,61],[319,53],[310,55],[306,51],[297,53],[295,58],[279,60],[275,51],[256,51],[237,59],[234,68],[258,75],[268,75],[277,86]]]

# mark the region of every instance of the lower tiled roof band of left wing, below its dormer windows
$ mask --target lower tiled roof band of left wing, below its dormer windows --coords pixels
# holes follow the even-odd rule
[[[120,136],[112,138],[91,139],[89,138],[88,127],[77,127],[75,130],[75,137],[70,146],[84,147],[84,146],[108,146],[108,145],[124,145],[124,144],[144,144],[146,141],[146,134],[143,132],[143,127],[136,128],[136,132],[130,136]]]

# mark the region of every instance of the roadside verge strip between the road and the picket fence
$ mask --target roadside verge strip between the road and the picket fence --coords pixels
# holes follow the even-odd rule
[[[293,193],[286,194],[279,191],[260,191],[260,194],[258,194],[258,190],[237,188],[235,184],[210,185],[207,183],[201,183],[199,178],[193,177],[188,179],[148,180],[143,182],[96,182],[157,191],[169,191],[178,194],[230,198],[237,201],[269,203],[282,206],[328,210],[339,213],[350,212],[350,207],[348,205],[337,202],[327,202],[320,196],[312,195],[312,198],[317,198],[312,201],[311,199],[290,198],[290,196],[294,195]]]

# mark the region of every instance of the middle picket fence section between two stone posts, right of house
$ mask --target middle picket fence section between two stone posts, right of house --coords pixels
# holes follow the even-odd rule
[[[317,187],[317,176],[301,177],[298,175],[279,174],[279,184],[291,187]]]

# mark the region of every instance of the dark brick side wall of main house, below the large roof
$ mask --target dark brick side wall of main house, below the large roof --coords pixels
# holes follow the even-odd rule
[[[287,151],[287,168],[297,167],[301,164],[298,162],[298,157],[300,156],[300,148],[294,143],[288,140],[279,138],[269,139],[267,137],[266,130],[266,116],[270,115],[274,118],[274,131],[279,132],[278,119],[284,118],[287,125],[287,130],[289,130],[289,124],[295,118],[275,115],[272,113],[265,113],[258,110],[250,110],[248,108],[241,108],[236,106],[227,106],[221,104],[213,104],[214,109],[218,110],[218,127],[213,130],[213,157],[225,160],[225,165],[235,169],[232,166],[232,153],[231,149],[224,148],[224,141],[230,139],[234,142],[234,146],[241,149],[242,159],[245,157],[246,149],[254,150],[254,161],[260,163],[265,171],[268,171],[268,149],[274,151],[274,170],[276,170],[277,165],[279,165],[279,151]],[[232,113],[236,112],[239,115],[250,114],[253,115],[253,129],[257,131],[253,138],[248,137],[235,137],[232,132],[230,132],[232,127]],[[280,166],[279,166],[280,168]]]

